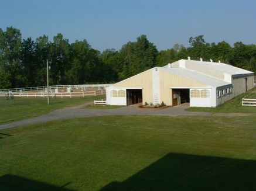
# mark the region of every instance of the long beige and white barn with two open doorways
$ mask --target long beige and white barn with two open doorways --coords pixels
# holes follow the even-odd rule
[[[165,103],[216,107],[254,86],[254,73],[219,62],[179,60],[154,67],[107,88],[108,105]]]

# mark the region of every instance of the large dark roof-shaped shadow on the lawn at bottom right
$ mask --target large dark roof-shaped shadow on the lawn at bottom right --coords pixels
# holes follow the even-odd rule
[[[101,190],[256,190],[256,161],[170,153]]]

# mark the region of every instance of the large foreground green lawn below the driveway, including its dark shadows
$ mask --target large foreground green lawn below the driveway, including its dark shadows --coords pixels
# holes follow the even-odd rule
[[[1,190],[255,190],[255,123],[104,116],[2,130]]]

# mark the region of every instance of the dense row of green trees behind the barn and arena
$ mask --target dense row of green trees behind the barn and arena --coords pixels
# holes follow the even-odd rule
[[[49,40],[46,35],[22,39],[15,27],[0,28],[0,88],[46,85],[46,59],[52,85],[112,83],[131,77],[155,66],[163,66],[180,59],[203,58],[221,61],[235,67],[256,72],[256,45],[226,41],[207,43],[203,35],[190,37],[189,47],[175,44],[158,51],[145,35],[129,41],[120,50],[102,53],[86,40],[69,43],[62,34]]]

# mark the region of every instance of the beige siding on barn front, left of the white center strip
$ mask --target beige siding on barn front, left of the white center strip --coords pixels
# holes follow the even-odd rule
[[[152,69],[113,85],[113,88],[142,88],[142,102],[153,102]]]

